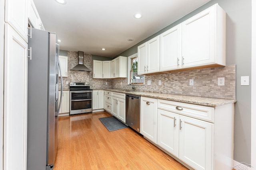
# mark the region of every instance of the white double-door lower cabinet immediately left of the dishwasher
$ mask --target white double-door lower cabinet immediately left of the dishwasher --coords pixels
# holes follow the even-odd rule
[[[112,93],[112,115],[125,123],[125,94]]]

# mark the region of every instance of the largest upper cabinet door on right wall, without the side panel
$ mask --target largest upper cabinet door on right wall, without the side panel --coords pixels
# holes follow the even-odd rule
[[[216,6],[182,22],[183,67],[214,62]]]

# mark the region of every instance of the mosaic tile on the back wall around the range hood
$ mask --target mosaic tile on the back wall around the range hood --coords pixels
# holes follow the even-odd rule
[[[70,82],[88,82],[90,88],[112,88],[112,79],[93,78],[92,71],[70,70],[77,64],[78,52],[68,51],[68,77],[63,77],[63,89],[69,89]],[[92,55],[84,54],[84,65],[92,70]],[[108,85],[105,85],[106,82]]]

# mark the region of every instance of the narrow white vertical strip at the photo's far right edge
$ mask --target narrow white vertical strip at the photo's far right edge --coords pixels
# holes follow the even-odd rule
[[[256,0],[252,0],[252,146],[251,164],[256,170]]]

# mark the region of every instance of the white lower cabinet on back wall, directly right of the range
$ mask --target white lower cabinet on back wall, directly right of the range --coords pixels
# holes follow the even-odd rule
[[[104,90],[92,91],[92,109],[104,109]]]

